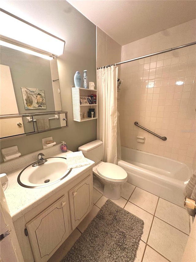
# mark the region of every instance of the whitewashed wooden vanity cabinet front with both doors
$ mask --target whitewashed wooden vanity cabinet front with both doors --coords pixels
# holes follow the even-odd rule
[[[24,260],[49,260],[92,206],[91,168],[13,222]]]

